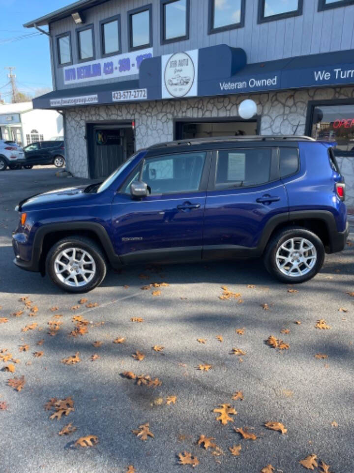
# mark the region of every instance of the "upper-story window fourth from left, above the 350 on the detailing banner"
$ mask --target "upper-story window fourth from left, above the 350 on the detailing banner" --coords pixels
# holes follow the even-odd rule
[[[152,46],[151,4],[128,11],[129,51]]]

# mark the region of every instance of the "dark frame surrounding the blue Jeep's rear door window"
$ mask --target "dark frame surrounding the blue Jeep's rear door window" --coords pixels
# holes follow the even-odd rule
[[[220,151],[236,151],[236,150],[254,150],[254,149],[266,149],[270,150],[270,169],[269,169],[269,180],[262,184],[253,184],[253,185],[242,185],[242,186],[232,186],[232,185],[216,185],[216,173],[217,173],[217,164]],[[210,169],[210,178],[208,183],[207,190],[209,192],[223,192],[223,191],[239,191],[244,189],[253,189],[255,187],[264,187],[274,182],[280,180],[280,152],[279,146],[228,146],[222,148],[216,148],[213,153],[212,166]]]

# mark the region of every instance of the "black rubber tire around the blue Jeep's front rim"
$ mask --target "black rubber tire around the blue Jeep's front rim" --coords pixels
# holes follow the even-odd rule
[[[95,272],[92,279],[87,283],[83,284],[82,286],[71,286],[67,283],[64,283],[62,280],[59,279],[56,271],[55,271],[55,260],[57,256],[60,254],[61,251],[69,248],[77,248],[86,251],[89,253],[91,258],[95,264]],[[70,252],[68,252],[69,254]],[[72,253],[71,253],[72,254]],[[69,260],[68,260],[69,261]],[[92,268],[92,266],[91,266]],[[55,243],[54,246],[49,250],[46,258],[46,269],[49,276],[52,278],[52,281],[59,286],[61,289],[67,292],[73,293],[84,293],[89,292],[103,281],[106,276],[107,272],[107,263],[106,257],[100,246],[90,238],[86,238],[80,235],[73,235],[68,236],[67,238],[63,238]],[[64,271],[63,277],[66,277],[69,274],[68,271]],[[80,275],[78,275],[80,276]],[[74,277],[74,276],[73,276]],[[82,279],[82,277],[80,276]],[[83,282],[83,281],[80,281]]]

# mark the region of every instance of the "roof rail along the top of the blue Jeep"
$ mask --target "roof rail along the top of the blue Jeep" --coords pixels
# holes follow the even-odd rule
[[[194,144],[213,143],[218,141],[316,141],[310,136],[294,135],[244,135],[244,136],[214,136],[211,138],[180,139],[166,141],[149,146],[149,149],[161,148],[163,146],[192,146]]]

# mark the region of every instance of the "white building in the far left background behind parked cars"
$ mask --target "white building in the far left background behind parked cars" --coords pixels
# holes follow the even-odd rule
[[[0,139],[27,146],[63,133],[62,115],[56,110],[33,109],[32,102],[0,105]]]

